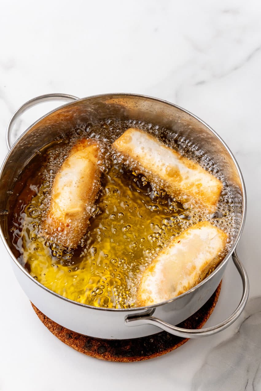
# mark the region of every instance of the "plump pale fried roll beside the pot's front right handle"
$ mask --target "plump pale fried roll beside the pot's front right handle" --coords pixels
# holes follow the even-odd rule
[[[208,221],[182,232],[142,274],[137,304],[142,307],[160,303],[194,287],[220,262],[227,237]]]

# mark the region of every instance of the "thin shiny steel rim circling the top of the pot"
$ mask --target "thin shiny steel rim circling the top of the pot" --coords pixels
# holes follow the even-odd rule
[[[88,304],[84,304],[84,303],[79,303],[77,301],[74,301],[74,300],[71,300],[71,299],[68,299],[64,296],[61,296],[59,295],[58,293],[56,292],[53,292],[51,291],[49,288],[45,287],[44,285],[42,285],[40,282],[38,282],[37,280],[35,280],[31,274],[29,274],[25,268],[22,267],[22,265],[20,265],[20,263],[18,262],[18,260],[15,258],[15,256],[13,255],[10,247],[8,246],[6,240],[5,240],[5,237],[4,237],[4,233],[2,231],[2,227],[0,227],[0,237],[2,239],[2,241],[4,242],[4,245],[5,245],[5,248],[7,249],[9,255],[11,256],[11,258],[13,259],[14,263],[20,268],[20,270],[27,276],[31,279],[32,282],[36,283],[39,287],[45,289],[47,292],[49,292],[50,294],[53,294],[54,296],[62,299],[62,300],[65,300],[65,301],[68,301],[69,303],[72,303],[72,304],[75,304],[75,305],[79,305],[81,307],[86,307],[86,308],[90,308],[90,309],[94,309],[94,310],[102,310],[102,311],[110,311],[110,312],[137,312],[137,311],[142,311],[142,310],[152,310],[153,308],[156,308],[156,307],[160,307],[164,304],[168,304],[168,303],[171,303],[175,300],[178,300],[179,298],[182,298],[184,296],[187,296],[188,294],[190,294],[191,292],[194,292],[196,289],[198,289],[199,287],[201,287],[203,284],[205,284],[208,280],[210,280],[216,273],[218,273],[218,271],[221,269],[221,267],[223,267],[223,265],[225,265],[230,256],[232,255],[232,253],[235,251],[236,249],[236,246],[238,245],[238,242],[239,242],[239,239],[241,237],[241,234],[242,234],[242,231],[243,231],[243,227],[244,227],[244,224],[245,224],[245,218],[246,218],[246,212],[247,212],[247,195],[246,195],[246,188],[245,188],[245,183],[244,183],[244,179],[243,179],[243,176],[242,176],[242,173],[241,173],[241,170],[239,168],[239,165],[238,165],[238,162],[236,161],[236,158],[234,157],[234,155],[232,154],[232,152],[230,151],[229,147],[227,146],[227,144],[223,141],[223,139],[218,135],[218,133],[216,133],[216,131],[214,131],[214,129],[212,129],[211,126],[209,126],[206,122],[204,122],[202,119],[200,119],[199,117],[197,117],[196,115],[194,115],[193,113],[191,113],[190,111],[174,104],[174,103],[171,103],[171,102],[168,102],[167,100],[164,100],[164,99],[159,99],[159,98],[155,98],[155,97],[151,97],[149,95],[142,95],[142,94],[134,94],[134,93],[105,93],[105,94],[98,94],[98,95],[92,95],[90,97],[84,97],[84,98],[79,98],[78,100],[75,100],[74,102],[69,102],[69,103],[66,103],[66,104],[63,104],[61,106],[59,106],[58,108],[54,109],[54,110],[51,110],[49,111],[49,113],[43,115],[42,117],[40,117],[38,120],[36,120],[31,126],[29,126],[23,133],[22,135],[16,140],[16,142],[13,144],[13,146],[11,147],[11,149],[9,150],[9,152],[7,153],[7,155],[5,156],[5,159],[2,163],[2,166],[1,166],[1,169],[0,169],[0,178],[2,177],[2,172],[4,170],[4,167],[5,167],[5,163],[7,162],[9,156],[11,156],[12,152],[13,152],[13,149],[16,147],[16,145],[20,142],[21,138],[33,127],[35,126],[38,122],[40,122],[43,118],[49,116],[50,114],[54,113],[56,110],[60,109],[60,108],[63,108],[63,107],[66,107],[66,106],[70,106],[70,105],[73,105],[75,104],[76,102],[78,101],[82,101],[82,100],[86,100],[86,99],[93,99],[93,98],[97,98],[97,97],[108,97],[108,96],[120,96],[120,97],[128,97],[128,96],[132,96],[132,97],[141,97],[141,98],[146,98],[146,99],[149,99],[149,100],[155,100],[157,102],[161,102],[161,103],[165,103],[165,104],[168,104],[172,107],[175,107],[181,111],[183,111],[184,113],[187,113],[189,115],[191,115],[192,117],[194,117],[196,120],[198,120],[199,122],[201,122],[205,127],[207,127],[207,129],[209,129],[213,134],[214,136],[216,136],[216,138],[218,138],[218,140],[221,142],[221,144],[225,147],[225,149],[227,149],[227,151],[229,152],[229,155],[230,157],[232,158],[232,161],[234,162],[234,165],[236,166],[236,169],[238,170],[238,174],[239,174],[239,178],[240,178],[240,181],[241,181],[241,185],[242,185],[242,193],[243,193],[243,197],[242,197],[242,206],[243,206],[243,212],[242,212],[242,219],[241,219],[241,223],[240,223],[240,227],[239,227],[239,231],[238,231],[238,235],[234,241],[234,244],[232,246],[232,248],[230,249],[229,253],[225,256],[225,258],[220,262],[220,264],[218,265],[218,267],[216,267],[216,269],[214,271],[212,271],[211,274],[209,274],[209,276],[207,276],[202,282],[200,282],[199,284],[197,284],[196,286],[194,286],[193,288],[189,289],[189,291],[186,291],[184,292],[183,294],[179,295],[179,296],[176,296],[175,298],[172,298],[172,299],[169,299],[169,300],[166,300],[166,301],[162,301],[160,303],[157,303],[157,304],[153,304],[153,305],[149,305],[149,306],[146,306],[146,307],[133,307],[133,308],[105,308],[105,307],[95,307],[95,306],[92,306],[92,305],[88,305]]]

